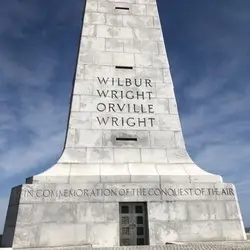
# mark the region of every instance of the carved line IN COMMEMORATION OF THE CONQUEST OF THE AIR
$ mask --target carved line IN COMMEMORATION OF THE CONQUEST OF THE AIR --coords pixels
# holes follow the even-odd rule
[[[232,188],[78,188],[78,189],[33,189],[22,190],[22,197],[33,198],[70,198],[70,197],[199,197],[199,196],[234,196]]]

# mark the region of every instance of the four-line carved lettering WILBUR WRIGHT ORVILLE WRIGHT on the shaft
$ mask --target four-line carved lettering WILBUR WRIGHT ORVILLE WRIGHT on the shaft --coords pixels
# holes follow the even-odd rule
[[[101,99],[96,117],[101,127],[152,128],[155,118],[153,84],[150,79],[97,77]]]

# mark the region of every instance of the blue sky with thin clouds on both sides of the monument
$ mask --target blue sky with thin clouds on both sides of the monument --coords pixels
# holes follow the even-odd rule
[[[250,1],[158,0],[186,145],[250,226]],[[0,232],[12,186],[62,151],[83,0],[0,1]]]

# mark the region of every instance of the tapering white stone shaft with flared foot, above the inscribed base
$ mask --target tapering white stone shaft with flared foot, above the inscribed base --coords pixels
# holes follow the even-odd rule
[[[32,181],[118,180],[222,182],[185,149],[155,0],[87,0],[65,149]]]

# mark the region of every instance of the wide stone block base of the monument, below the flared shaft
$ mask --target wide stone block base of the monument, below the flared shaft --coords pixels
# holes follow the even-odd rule
[[[25,184],[12,190],[2,246],[240,241],[240,214],[235,188],[225,183]],[[140,223],[141,231],[127,231]]]

